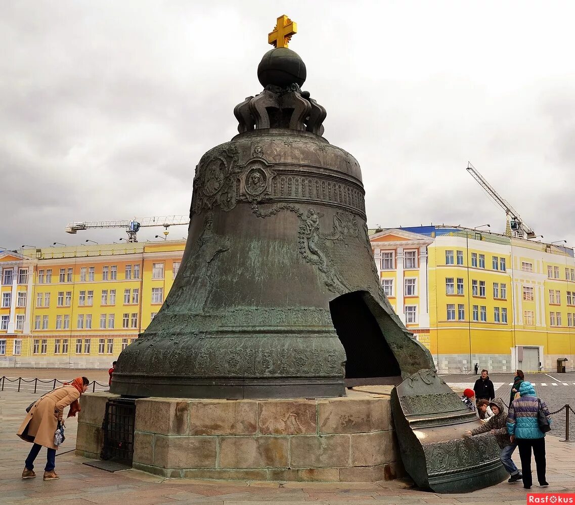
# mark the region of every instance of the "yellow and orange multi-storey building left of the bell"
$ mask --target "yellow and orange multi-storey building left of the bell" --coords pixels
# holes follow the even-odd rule
[[[0,366],[107,368],[170,291],[185,241],[0,253]]]

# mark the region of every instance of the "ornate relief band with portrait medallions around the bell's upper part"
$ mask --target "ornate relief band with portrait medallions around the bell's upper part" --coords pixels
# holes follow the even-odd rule
[[[196,168],[192,209],[220,206],[229,211],[237,202],[262,202],[269,199],[309,203],[331,203],[355,211],[365,218],[363,188],[347,181],[338,182],[322,176],[277,175],[259,153],[243,165],[237,164],[237,149],[227,148],[206,153]],[[277,170],[277,167],[275,168]]]

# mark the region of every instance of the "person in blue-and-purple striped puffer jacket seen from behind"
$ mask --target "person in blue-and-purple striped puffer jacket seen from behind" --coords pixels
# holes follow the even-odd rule
[[[531,489],[533,484],[533,477],[531,476],[531,448],[535,456],[539,487],[547,487],[549,484],[547,484],[545,478],[545,433],[539,429],[539,402],[543,413],[547,416],[549,423],[551,423],[549,409],[543,400],[537,398],[535,388],[528,381],[523,382],[519,386],[519,395],[520,398],[513,400],[513,403],[509,405],[507,431],[511,435],[511,442],[517,442],[517,447],[519,448],[523,487]]]

